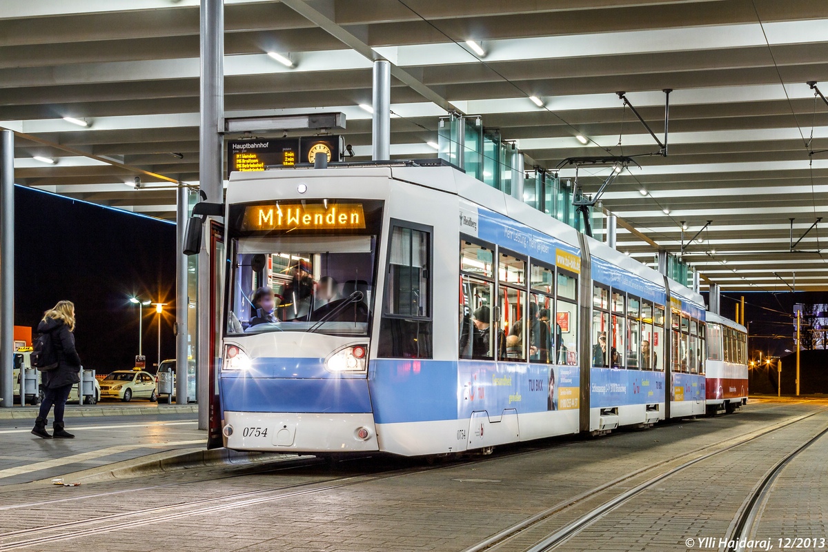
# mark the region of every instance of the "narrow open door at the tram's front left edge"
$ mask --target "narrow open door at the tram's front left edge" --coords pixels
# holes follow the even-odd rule
[[[221,359],[221,312],[224,299],[224,268],[227,255],[224,252],[224,224],[210,221],[209,243],[209,405],[207,448],[224,446],[221,437],[221,401],[219,397],[219,362]]]

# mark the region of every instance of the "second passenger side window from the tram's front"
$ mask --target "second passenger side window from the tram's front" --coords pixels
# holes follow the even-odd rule
[[[528,353],[529,357],[537,358],[540,351],[540,330],[537,305],[529,305],[528,318],[526,314],[526,261],[508,253],[500,253],[498,280],[500,319],[497,320],[497,329],[502,331],[506,340],[505,355],[499,357],[523,362]]]

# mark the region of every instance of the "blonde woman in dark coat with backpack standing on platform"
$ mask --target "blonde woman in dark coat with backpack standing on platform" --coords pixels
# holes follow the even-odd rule
[[[74,439],[75,435],[64,429],[63,412],[69,391],[80,382],[80,358],[75,350],[75,305],[71,301],[59,301],[55,308],[47,310],[37,326],[40,334],[50,334],[51,345],[55,348],[58,366],[50,372],[43,372],[44,398],[41,411],[35,420],[31,433],[43,439],[51,439],[46,433],[46,418],[52,405],[55,406],[55,438]]]

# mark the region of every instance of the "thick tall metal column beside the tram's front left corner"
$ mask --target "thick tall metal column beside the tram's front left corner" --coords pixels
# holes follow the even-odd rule
[[[219,127],[224,115],[224,0],[201,0],[201,80],[199,123],[199,180],[200,190],[207,194],[207,201],[224,202],[222,180],[222,137]],[[204,226],[209,232],[209,219]],[[207,430],[209,424],[209,368],[214,351],[210,350],[210,257],[209,239],[202,240],[199,253],[198,287],[198,371],[199,429]]]

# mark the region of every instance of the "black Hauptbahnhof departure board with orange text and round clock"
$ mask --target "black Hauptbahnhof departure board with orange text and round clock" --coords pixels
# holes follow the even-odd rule
[[[316,155],[339,161],[342,137],[254,138],[227,142],[227,175],[233,171],[265,170],[267,166],[313,163]]]

